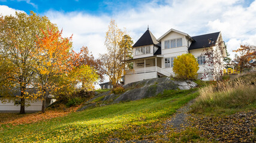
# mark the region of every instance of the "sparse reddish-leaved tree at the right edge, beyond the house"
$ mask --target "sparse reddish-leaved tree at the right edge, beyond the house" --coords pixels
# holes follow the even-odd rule
[[[233,63],[236,65],[236,68],[240,73],[242,73],[244,69],[255,67],[255,64],[249,63],[249,61],[256,59],[256,46],[248,44],[240,45],[240,48],[233,52],[238,53],[235,55]]]

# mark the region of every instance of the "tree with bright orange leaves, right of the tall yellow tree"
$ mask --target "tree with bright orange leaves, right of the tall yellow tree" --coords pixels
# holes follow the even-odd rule
[[[69,60],[71,56],[71,39],[62,38],[62,30],[55,30],[54,25],[50,26],[46,32],[43,31],[43,38],[38,37],[37,52],[35,52],[36,62],[34,69],[37,73],[37,95],[41,97],[42,112],[45,110],[46,98],[51,91],[62,88],[54,82],[56,76],[68,74],[72,70],[72,63]]]

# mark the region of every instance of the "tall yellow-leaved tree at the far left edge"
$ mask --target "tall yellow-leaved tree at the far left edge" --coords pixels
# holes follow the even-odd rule
[[[50,21],[33,12],[30,15],[17,13],[0,17],[0,48],[5,58],[13,66],[10,77],[15,88],[20,89],[20,113],[25,113],[25,99],[33,99],[26,91],[34,76],[35,57],[32,53],[37,48],[37,36],[42,37],[41,29],[45,30]],[[1,77],[0,77],[1,78]]]

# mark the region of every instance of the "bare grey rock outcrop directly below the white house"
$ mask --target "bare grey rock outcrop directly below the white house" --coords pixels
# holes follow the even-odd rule
[[[197,86],[197,84],[191,80],[171,80],[170,77],[141,80],[140,82],[133,82],[125,85],[125,92],[123,94],[111,94],[109,91],[97,95],[87,101],[85,105],[77,111],[82,111],[88,107],[95,107],[97,105],[114,104],[121,101],[134,101],[154,97],[164,90],[184,90],[194,88],[195,86]]]

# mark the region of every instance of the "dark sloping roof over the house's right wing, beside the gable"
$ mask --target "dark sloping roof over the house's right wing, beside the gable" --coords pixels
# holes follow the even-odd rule
[[[199,36],[192,37],[194,41],[191,43],[188,49],[191,50],[191,49],[206,48],[211,45],[215,45],[216,41],[218,40],[219,33],[220,32],[216,32],[216,33],[210,33],[206,35],[199,35]],[[209,41],[211,42],[209,43]]]

